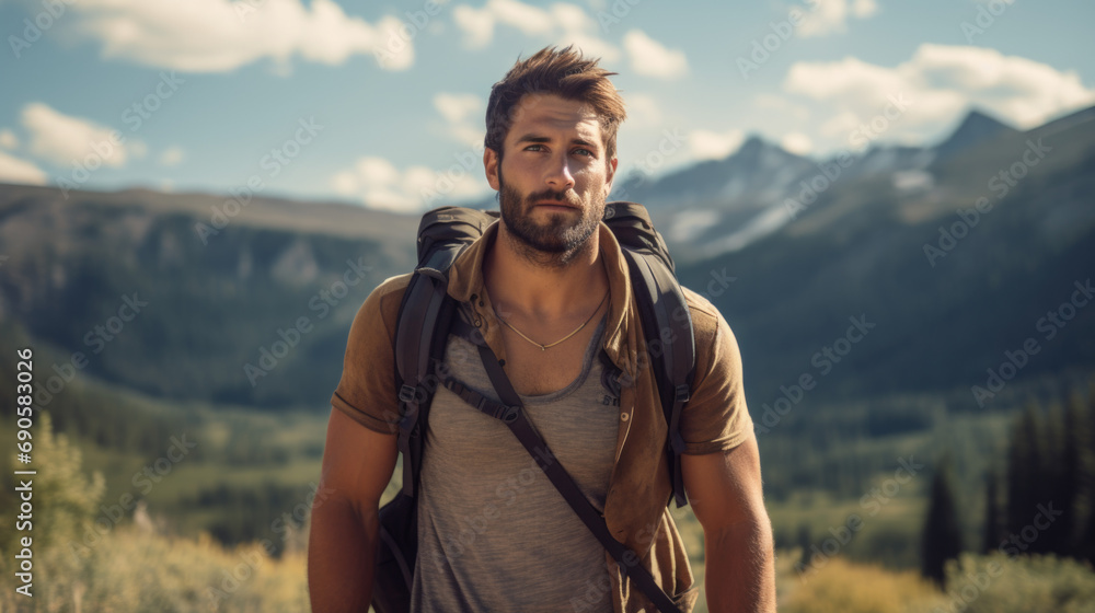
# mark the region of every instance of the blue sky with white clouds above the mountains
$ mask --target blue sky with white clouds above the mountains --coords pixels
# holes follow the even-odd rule
[[[1095,104],[1090,0],[738,4],[0,0],[0,181],[258,177],[264,195],[420,210],[487,193],[491,85],[569,43],[619,72],[625,174],[751,134],[819,157],[933,143],[970,106],[1025,128]]]

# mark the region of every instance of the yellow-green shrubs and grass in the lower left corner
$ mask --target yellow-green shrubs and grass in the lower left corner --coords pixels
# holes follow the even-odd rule
[[[33,598],[15,592],[12,539],[0,543],[0,611],[101,613],[308,611],[306,556],[284,543],[232,550],[208,535],[169,537],[129,520],[91,529],[103,495],[100,475],[81,472],[79,450],[55,437],[48,414],[35,431]],[[4,533],[8,534],[7,532]],[[73,546],[73,545],[78,546]]]

